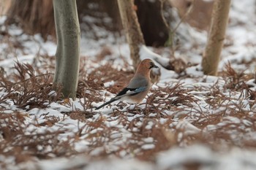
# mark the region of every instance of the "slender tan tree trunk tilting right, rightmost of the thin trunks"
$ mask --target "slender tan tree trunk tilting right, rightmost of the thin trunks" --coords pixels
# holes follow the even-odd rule
[[[213,12],[211,15],[211,27],[202,61],[204,74],[217,75],[219,58],[225,39],[230,2],[231,0],[214,1]]]

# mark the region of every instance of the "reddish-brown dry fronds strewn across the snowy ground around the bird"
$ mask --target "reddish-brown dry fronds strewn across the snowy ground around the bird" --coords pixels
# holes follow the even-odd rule
[[[99,91],[116,93],[124,87],[127,77],[132,76],[132,72],[119,70],[118,76],[116,72],[109,64],[93,69],[89,74],[84,69],[80,70],[80,74],[86,77],[78,83],[77,96],[83,108],[64,112],[63,117],[77,120],[83,125],[79,126],[78,131],[73,131],[68,140],[60,140],[59,136],[67,133],[65,124],[54,131],[50,127],[56,127],[63,117],[45,114],[40,115],[44,122],[27,123],[25,120],[31,116],[27,115],[27,111],[50,108],[53,102],[72,107],[72,102],[61,100],[60,87],[51,84],[52,74],[39,74],[39,70],[31,65],[17,62],[13,74],[9,75],[13,81],[1,74],[1,155],[6,158],[13,156],[15,163],[81,153],[91,155],[91,158],[116,155],[154,162],[157,153],[162,150],[195,143],[207,144],[214,150],[233,146],[256,147],[256,142],[249,137],[249,132],[256,131],[256,117],[252,114],[256,95],[246,85],[251,75],[236,73],[227,65],[222,73],[225,85],[220,87],[217,82],[211,88],[204,88],[203,91],[208,91],[201,94],[205,97],[204,101],[191,93],[192,90],[202,90],[200,87],[186,89],[181,83],[173,83],[151,90],[146,106],[138,104],[126,111],[124,107],[127,104],[121,103],[109,115],[98,114],[92,109],[92,103],[102,101]],[[111,80],[115,85],[104,88],[104,83]],[[245,103],[245,100],[249,103]],[[10,110],[10,104],[20,108],[20,111]],[[189,123],[197,131],[188,133],[189,126],[182,122]],[[34,130],[28,133],[27,129],[31,126]],[[37,128],[40,127],[45,127],[45,131],[39,133]],[[89,143],[87,149],[78,152],[75,143],[83,140]],[[154,147],[145,147],[148,144]],[[7,165],[2,162],[1,167],[4,166]]]

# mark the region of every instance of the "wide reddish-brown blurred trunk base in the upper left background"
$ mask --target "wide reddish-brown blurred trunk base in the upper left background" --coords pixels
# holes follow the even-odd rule
[[[44,39],[55,36],[52,0],[11,0],[6,4],[7,23],[18,23],[26,34],[41,33]]]

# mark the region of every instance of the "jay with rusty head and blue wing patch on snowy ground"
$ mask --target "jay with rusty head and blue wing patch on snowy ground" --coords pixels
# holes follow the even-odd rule
[[[148,94],[151,88],[150,71],[152,68],[159,68],[150,59],[145,59],[140,62],[137,71],[135,72],[132,80],[126,88],[121,90],[116,97],[111,98],[110,101],[105,104],[100,105],[96,109],[105,107],[106,105],[112,103],[113,101],[128,101],[132,104],[138,104],[143,101],[143,98]]]

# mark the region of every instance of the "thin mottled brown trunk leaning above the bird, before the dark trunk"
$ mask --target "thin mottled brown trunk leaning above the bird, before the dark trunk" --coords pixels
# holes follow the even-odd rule
[[[121,20],[129,43],[132,64],[137,69],[140,63],[140,46],[145,45],[133,0],[117,0]]]

